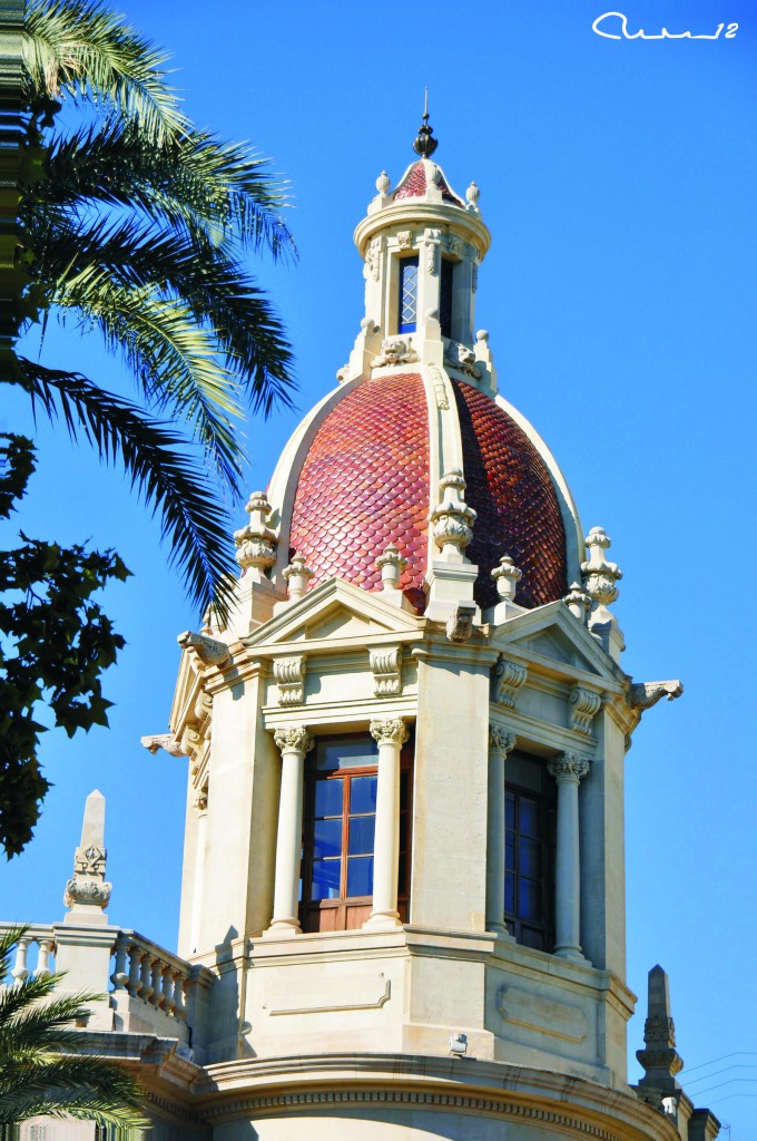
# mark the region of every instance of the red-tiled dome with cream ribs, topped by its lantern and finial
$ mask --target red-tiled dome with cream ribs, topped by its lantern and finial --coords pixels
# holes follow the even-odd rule
[[[489,334],[474,332],[490,235],[477,185],[461,197],[432,162],[426,119],[421,157],[394,188],[378,177],[355,232],[365,317],[340,386],[295,431],[269,499],[251,500],[237,558],[279,598],[341,578],[433,621],[475,604],[499,622],[567,594],[583,532],[547,447],[498,395]]]

